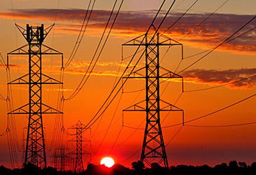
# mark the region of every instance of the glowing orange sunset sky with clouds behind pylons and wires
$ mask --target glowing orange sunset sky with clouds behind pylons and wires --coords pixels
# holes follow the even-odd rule
[[[121,61],[121,45],[143,34],[151,24],[156,11],[162,1],[160,0],[124,0],[123,6],[117,17],[117,21],[108,42],[99,57],[92,76],[84,85],[80,93],[72,100],[65,101],[63,109],[64,126],[74,125],[78,120],[87,124],[95,115],[106,97],[111,92],[115,79],[119,78],[130,58]],[[167,1],[162,11],[162,16],[168,9]],[[174,21],[186,11],[193,0],[178,0],[174,8],[166,18],[160,33],[164,32]],[[165,33],[184,45],[184,57],[194,55],[217,46],[233,32],[243,26],[255,15],[256,1],[254,0],[230,0],[221,7],[216,14],[210,16],[200,27],[195,29],[207,15],[214,12],[225,0],[199,0],[199,2],[185,14],[178,23]],[[15,23],[25,27],[26,24],[50,26],[55,23],[51,33],[45,40],[45,44],[62,52],[66,62],[75,45],[83,16],[86,13],[89,0],[1,0],[0,2],[0,52],[5,61],[6,54],[26,44],[25,39],[15,27]],[[92,17],[87,31],[84,34],[81,45],[73,61],[65,70],[64,96],[69,97],[76,89],[84,72],[86,71],[93,53],[96,49],[106,20],[108,19],[114,0],[96,1]],[[120,1],[118,3],[118,6]],[[116,8],[117,10],[118,8]],[[160,20],[160,19],[159,19]],[[157,20],[157,22],[159,22]],[[158,24],[158,23],[156,23]],[[246,26],[239,34],[256,26],[256,19]],[[184,77],[184,90],[196,90],[222,85],[242,78],[256,75],[256,31],[252,30],[212,52],[193,67],[181,73]],[[134,53],[134,48],[124,48],[124,57]],[[175,71],[180,62],[180,48],[162,47],[160,50],[161,65],[168,70]],[[193,63],[201,55],[184,59],[178,72],[187,65]],[[137,58],[137,57],[136,57]],[[135,63],[135,61],[133,62]],[[28,73],[28,58],[26,56],[13,56],[10,58],[10,71],[12,79]],[[144,57],[138,64],[143,67]],[[48,56],[43,58],[42,71],[56,79],[60,75],[60,57]],[[120,69],[120,70],[119,70]],[[6,70],[0,65],[0,94],[6,97],[7,79]],[[166,88],[166,85],[167,88]],[[199,92],[184,92],[177,102],[177,106],[185,113],[185,121],[200,117],[204,114],[216,111],[219,108],[242,100],[255,94],[256,78],[247,79],[238,83],[221,86]],[[122,127],[122,110],[145,98],[145,92],[125,93],[143,89],[143,80],[129,80],[124,86],[123,94],[119,94],[108,110],[92,126],[91,136],[88,133],[84,137],[92,137],[92,163],[99,164],[100,159],[111,156],[116,163],[130,166],[133,161],[140,159],[140,147],[143,141],[145,126],[144,113],[124,113],[124,125],[121,135],[116,142],[116,147],[109,155],[120,128]],[[166,89],[165,89],[166,88]],[[163,90],[165,91],[163,92]],[[13,85],[13,108],[22,106],[28,102],[28,86]],[[43,88],[43,100],[46,104],[57,107],[57,85],[45,85]],[[161,98],[170,103],[175,103],[181,93],[180,81],[166,81],[161,83]],[[121,96],[121,100],[119,102]],[[256,122],[255,97],[225,111],[211,115],[207,118],[191,122],[191,125],[228,125]],[[6,102],[0,101],[0,133],[7,126]],[[116,112],[115,112],[116,111]],[[114,115],[105,139],[104,134]],[[161,115],[165,118],[166,113]],[[55,115],[45,115],[44,118],[46,150],[48,165],[52,165],[52,139]],[[23,162],[24,127],[27,126],[27,116],[15,116],[20,165]],[[180,123],[182,117],[178,113],[170,113],[162,122],[162,126]],[[165,143],[173,138],[181,126],[163,128]],[[60,127],[59,127],[60,128]],[[58,128],[58,129],[59,129]],[[69,132],[73,132],[69,130]],[[180,133],[166,146],[169,165],[192,164],[215,165],[230,160],[256,161],[256,125],[236,127],[191,127],[184,126]],[[58,137],[58,136],[55,136]],[[74,145],[64,138],[66,145],[73,151]],[[100,144],[102,142],[102,144]],[[101,145],[99,147],[99,145]],[[87,147],[87,146],[86,146]],[[139,150],[139,151],[137,151]],[[136,152],[137,151],[137,152]],[[87,160],[84,160],[85,162]],[[0,164],[10,166],[8,144],[6,136],[0,137]]]

